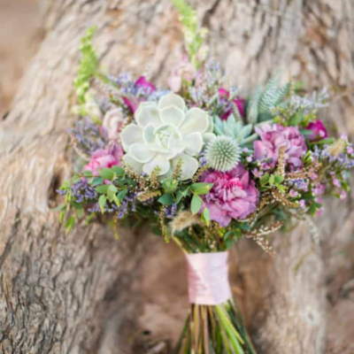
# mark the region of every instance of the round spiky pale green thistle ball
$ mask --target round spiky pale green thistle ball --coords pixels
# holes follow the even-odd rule
[[[230,136],[218,136],[206,147],[205,158],[216,171],[232,170],[241,159],[240,146]]]

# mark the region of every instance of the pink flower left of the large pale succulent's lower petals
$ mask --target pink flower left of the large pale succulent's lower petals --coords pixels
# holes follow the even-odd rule
[[[94,176],[103,168],[111,168],[113,165],[120,165],[120,158],[123,156],[123,149],[120,145],[114,145],[110,149],[96,150],[82,171],[91,171]]]

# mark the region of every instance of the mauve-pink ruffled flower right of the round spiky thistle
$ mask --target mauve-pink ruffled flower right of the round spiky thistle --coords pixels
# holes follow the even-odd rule
[[[292,167],[302,165],[301,155],[307,151],[304,136],[297,127],[282,127],[278,124],[264,124],[255,128],[261,140],[253,142],[254,157],[258,160],[270,159],[268,167],[278,162],[279,150],[285,146],[286,159]]]

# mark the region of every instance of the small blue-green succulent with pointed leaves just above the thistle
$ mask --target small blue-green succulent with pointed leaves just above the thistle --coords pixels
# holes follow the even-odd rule
[[[257,139],[257,134],[250,135],[252,128],[251,124],[245,126],[242,120],[235,119],[234,115],[230,115],[227,120],[221,120],[219,117],[214,119],[215,135],[230,136],[242,147],[251,147],[252,143]]]

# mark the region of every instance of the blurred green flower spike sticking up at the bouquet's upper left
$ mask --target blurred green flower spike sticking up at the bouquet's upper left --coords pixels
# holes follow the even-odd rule
[[[76,96],[80,104],[85,104],[85,94],[89,90],[89,81],[97,73],[98,59],[92,45],[96,27],[91,27],[81,39],[81,62],[76,78],[73,81]]]

